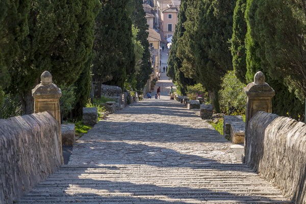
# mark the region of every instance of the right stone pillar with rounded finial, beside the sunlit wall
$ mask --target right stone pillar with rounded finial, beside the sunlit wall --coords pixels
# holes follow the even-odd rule
[[[271,98],[275,95],[274,90],[265,82],[265,75],[259,71],[254,75],[254,82],[249,83],[244,92],[247,95],[246,116],[245,116],[245,138],[244,138],[244,155],[248,148],[247,145],[247,126],[253,115],[258,111],[272,112]],[[243,156],[244,161],[244,156]]]

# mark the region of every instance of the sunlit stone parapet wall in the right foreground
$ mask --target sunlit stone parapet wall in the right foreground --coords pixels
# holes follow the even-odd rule
[[[306,203],[306,124],[258,112],[247,138],[246,163],[294,203]]]

